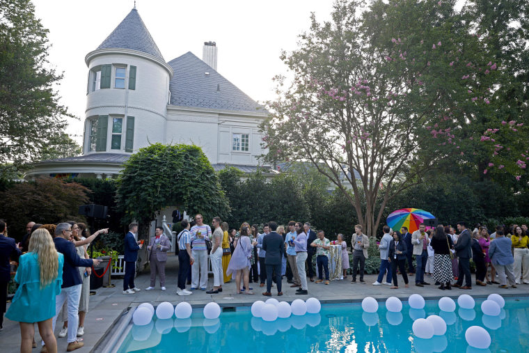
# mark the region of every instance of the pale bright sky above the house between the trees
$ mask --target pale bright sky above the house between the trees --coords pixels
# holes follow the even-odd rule
[[[97,49],[134,8],[133,0],[33,0],[35,16],[49,29],[48,60],[63,72],[61,104],[80,120],[67,132],[81,143],[86,109],[86,54]],[[165,61],[216,42],[217,71],[253,100],[273,100],[276,74],[287,74],[281,50],[297,49],[310,29],[310,13],[329,21],[333,0],[137,0],[136,9]]]

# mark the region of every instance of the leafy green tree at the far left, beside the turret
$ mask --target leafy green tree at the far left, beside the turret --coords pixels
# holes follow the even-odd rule
[[[63,75],[49,68],[47,33],[30,0],[0,0],[1,166],[38,162],[73,117],[53,89]]]

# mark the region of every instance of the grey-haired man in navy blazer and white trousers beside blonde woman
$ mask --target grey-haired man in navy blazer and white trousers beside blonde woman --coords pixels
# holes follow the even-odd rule
[[[78,267],[97,266],[101,262],[101,260],[91,258],[79,258],[74,244],[70,242],[71,236],[72,226],[70,223],[58,223],[54,243],[55,249],[64,256],[63,285],[61,286],[61,294],[55,297],[55,316],[52,322],[55,330],[58,313],[61,311],[64,301],[68,299],[68,352],[84,346],[84,343],[77,340],[79,299],[81,299],[81,285],[83,283]],[[44,341],[42,341],[42,345],[44,345]]]

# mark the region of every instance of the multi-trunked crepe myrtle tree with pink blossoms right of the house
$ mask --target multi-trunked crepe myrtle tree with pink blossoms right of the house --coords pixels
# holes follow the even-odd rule
[[[443,162],[460,162],[480,134],[507,130],[490,104],[499,64],[453,5],[338,0],[330,22],[312,15],[299,48],[281,55],[293,77],[274,78],[278,99],[267,102],[261,125],[264,159],[311,162],[368,235],[397,194]],[[470,129],[478,116],[492,130]],[[497,147],[485,148],[493,155]]]

